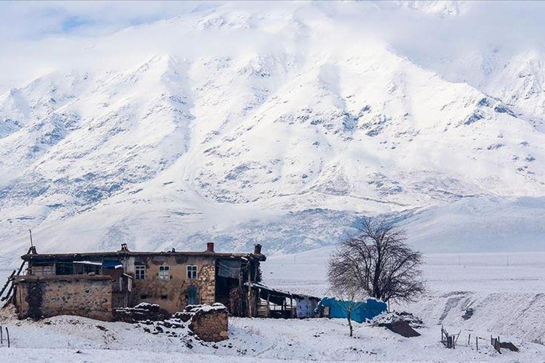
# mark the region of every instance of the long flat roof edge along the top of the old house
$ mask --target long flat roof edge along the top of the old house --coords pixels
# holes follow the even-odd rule
[[[110,251],[110,252],[84,252],[84,253],[63,253],[63,254],[26,254],[21,259],[31,260],[49,260],[49,259],[85,259],[89,257],[127,257],[127,256],[203,256],[225,259],[253,258],[259,261],[265,261],[267,257],[263,254],[253,253],[222,253],[222,252],[198,252],[198,251]]]

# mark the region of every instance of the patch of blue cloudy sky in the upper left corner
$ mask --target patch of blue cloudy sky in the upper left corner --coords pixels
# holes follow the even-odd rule
[[[189,1],[2,1],[0,93],[53,70],[55,62],[50,59],[69,57],[75,42],[220,5]]]

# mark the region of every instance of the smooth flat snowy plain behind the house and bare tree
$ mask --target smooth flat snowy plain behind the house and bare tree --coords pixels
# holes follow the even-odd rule
[[[263,276],[271,286],[327,293],[326,268],[332,248],[268,257]],[[423,276],[431,293],[545,291],[545,253],[425,254]]]

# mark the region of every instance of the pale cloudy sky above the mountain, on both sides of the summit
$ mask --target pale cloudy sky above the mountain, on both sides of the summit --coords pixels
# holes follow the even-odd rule
[[[354,34],[373,34],[421,64],[437,64],[443,58],[482,50],[514,54],[545,49],[545,2],[299,4],[341,17],[340,23]],[[273,6],[288,7],[268,2],[227,5],[263,8],[263,13]],[[189,1],[0,2],[0,93],[63,67],[70,59],[77,61],[82,48],[108,34],[225,6],[224,2]],[[451,14],[444,9],[457,11]],[[455,61],[451,63],[456,66]]]

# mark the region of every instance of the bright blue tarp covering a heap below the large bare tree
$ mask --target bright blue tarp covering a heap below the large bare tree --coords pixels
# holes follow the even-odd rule
[[[352,313],[350,318],[358,323],[363,323],[366,319],[373,319],[380,313],[386,311],[386,303],[377,299],[367,299],[365,302],[353,302]],[[337,300],[335,298],[323,298],[320,300],[315,313],[320,313],[325,306],[329,307],[330,318],[347,318],[347,308],[350,306],[350,302]]]

